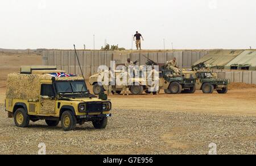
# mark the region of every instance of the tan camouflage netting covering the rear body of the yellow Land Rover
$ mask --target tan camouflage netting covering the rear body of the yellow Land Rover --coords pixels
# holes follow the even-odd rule
[[[6,98],[10,99],[39,99],[40,80],[51,80],[48,74],[19,74],[12,73],[7,78]]]

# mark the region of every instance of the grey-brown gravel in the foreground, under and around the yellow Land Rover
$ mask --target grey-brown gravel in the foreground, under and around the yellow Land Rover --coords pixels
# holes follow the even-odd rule
[[[230,115],[113,110],[105,130],[91,123],[76,131],[47,127],[43,121],[15,127],[0,106],[0,154],[255,154],[256,118]]]

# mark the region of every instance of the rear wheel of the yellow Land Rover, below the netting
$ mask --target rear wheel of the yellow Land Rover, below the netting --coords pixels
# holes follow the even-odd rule
[[[30,117],[23,108],[19,108],[14,113],[14,122],[17,127],[28,127]]]

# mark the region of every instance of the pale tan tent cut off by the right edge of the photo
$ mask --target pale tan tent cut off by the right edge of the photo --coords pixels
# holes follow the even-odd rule
[[[256,51],[246,50],[225,65],[225,69],[256,70]]]

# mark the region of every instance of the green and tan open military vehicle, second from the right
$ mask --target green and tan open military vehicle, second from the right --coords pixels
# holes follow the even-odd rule
[[[195,93],[196,78],[194,74],[182,73],[181,76],[173,76],[173,70],[162,70],[162,81],[159,81],[160,89],[166,94]]]

